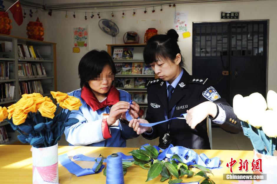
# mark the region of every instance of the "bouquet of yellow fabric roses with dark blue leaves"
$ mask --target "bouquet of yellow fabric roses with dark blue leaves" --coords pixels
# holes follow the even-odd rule
[[[72,110],[79,110],[80,99],[62,92],[51,92],[55,105],[48,97],[39,93],[24,94],[15,104],[0,107],[0,122],[7,120],[12,129],[17,131],[17,138],[22,143],[34,147],[50,147],[60,140],[65,127],[74,125],[79,120],[68,118]],[[57,112],[59,106],[62,107]]]

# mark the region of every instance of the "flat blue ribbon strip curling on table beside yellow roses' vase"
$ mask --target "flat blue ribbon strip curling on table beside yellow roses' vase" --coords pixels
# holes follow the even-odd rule
[[[81,168],[78,164],[72,162],[67,154],[63,154],[59,156],[59,161],[64,166],[70,173],[75,174],[76,176],[85,176],[85,175],[90,175],[90,174],[96,174],[100,173],[102,169],[105,167],[105,165],[102,165],[101,168],[95,172],[95,168],[98,166],[98,162],[96,162],[93,167],[90,168]]]

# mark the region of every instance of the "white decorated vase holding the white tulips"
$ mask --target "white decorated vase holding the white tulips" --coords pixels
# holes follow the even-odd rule
[[[277,155],[274,151],[273,155]],[[254,150],[255,161],[261,159],[262,172],[260,170],[253,171],[254,174],[266,174],[266,180],[254,180],[254,184],[276,184],[277,182],[277,156],[270,156],[258,153]],[[252,161],[252,160],[251,160]],[[257,163],[257,162],[255,162]],[[251,164],[252,165],[252,164]],[[251,166],[250,166],[251,167]]]

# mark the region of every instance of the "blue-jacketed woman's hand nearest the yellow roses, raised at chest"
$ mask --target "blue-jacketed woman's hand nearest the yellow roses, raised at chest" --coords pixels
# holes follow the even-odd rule
[[[125,101],[119,101],[112,106],[110,115],[107,118],[108,126],[113,125],[118,120],[123,112],[126,112],[130,108],[130,103]]]

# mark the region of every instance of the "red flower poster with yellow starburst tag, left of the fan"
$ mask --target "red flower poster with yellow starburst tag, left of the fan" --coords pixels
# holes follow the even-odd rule
[[[73,27],[73,38],[74,38],[74,47],[72,51],[74,53],[79,53],[80,48],[85,48],[86,50],[89,50],[88,26]]]

